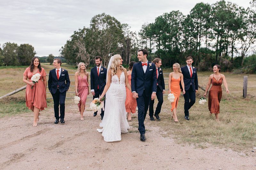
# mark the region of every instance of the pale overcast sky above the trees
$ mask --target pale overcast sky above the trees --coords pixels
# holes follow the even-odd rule
[[[37,56],[58,56],[73,32],[89,27],[97,14],[105,12],[138,32],[143,23],[154,22],[164,12],[179,10],[187,15],[199,2],[217,0],[0,0],[0,44],[28,43]],[[231,2],[250,6],[250,0]]]

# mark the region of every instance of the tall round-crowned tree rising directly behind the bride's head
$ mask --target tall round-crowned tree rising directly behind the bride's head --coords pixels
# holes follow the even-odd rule
[[[100,55],[103,66],[106,66],[111,55],[121,53],[123,39],[122,24],[116,18],[102,13],[94,16],[90,28],[86,29],[86,51]]]

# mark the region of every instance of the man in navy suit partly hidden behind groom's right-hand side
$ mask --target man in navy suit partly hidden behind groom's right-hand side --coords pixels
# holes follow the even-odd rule
[[[162,108],[162,104],[164,102],[164,91],[165,91],[165,85],[164,85],[164,75],[163,75],[163,70],[160,68],[162,65],[162,60],[159,58],[155,58],[153,60],[153,63],[156,65],[156,97],[158,100],[157,106],[156,106],[156,111],[155,111],[155,117],[157,120],[161,120],[159,117],[159,113],[161,112],[161,108]],[[151,100],[149,103],[149,117],[150,120],[155,120],[153,117],[154,114],[154,101],[155,100]]]

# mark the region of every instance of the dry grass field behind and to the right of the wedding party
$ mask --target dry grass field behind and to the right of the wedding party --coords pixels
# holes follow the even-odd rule
[[[49,70],[53,68],[52,65],[46,63],[43,63],[42,67],[44,67],[46,73],[49,73]],[[64,63],[62,67],[67,69],[69,74],[76,72],[74,66]],[[0,96],[26,85],[22,81],[25,68],[0,67]],[[170,69],[164,69],[164,73],[169,73],[170,71]],[[198,73],[201,86],[206,86],[210,74],[210,72]],[[256,75],[248,75],[248,97],[243,99],[244,74],[223,74],[226,76],[230,94],[226,94],[223,87],[223,96],[220,103],[220,123],[214,120],[214,115],[210,116],[207,104],[199,105],[199,97],[204,94],[201,89],[196,94],[195,105],[190,109],[190,121],[184,120],[184,98],[181,96],[177,110],[179,123],[174,123],[171,120],[170,104],[165,96],[162,111],[159,115],[161,121],[153,122],[155,126],[162,128],[163,136],[172,136],[178,143],[191,143],[202,148],[212,144],[241,151],[256,146]],[[167,74],[165,74],[165,78],[168,78]],[[73,75],[70,75],[70,80],[74,80]],[[166,83],[167,81],[165,80]],[[71,86],[74,86],[74,81],[71,81]],[[75,91],[74,87],[69,89],[69,92]],[[168,89],[168,86],[166,86],[166,89]],[[75,93],[68,93],[67,97],[73,97],[74,95]],[[89,95],[89,97],[91,96]],[[50,98],[51,95],[47,93],[48,97]],[[87,101],[91,102],[91,99]],[[66,105],[72,103],[72,100],[66,100]],[[155,102],[156,104],[157,102]],[[53,107],[51,99],[47,100],[47,105],[48,108]],[[0,117],[14,116],[26,112],[29,112],[29,110],[25,104],[25,90],[0,101]],[[133,117],[133,124],[136,126],[136,116]],[[146,121],[149,121],[148,117]]]

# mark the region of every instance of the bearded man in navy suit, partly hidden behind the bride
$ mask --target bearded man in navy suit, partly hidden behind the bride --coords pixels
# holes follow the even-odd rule
[[[99,98],[102,94],[107,78],[107,68],[101,66],[102,58],[100,56],[95,57],[96,66],[91,69],[91,92],[93,99]],[[104,101],[105,104],[105,101]],[[96,116],[98,111],[93,113],[93,116]],[[101,109],[101,120],[104,116],[104,111]]]

